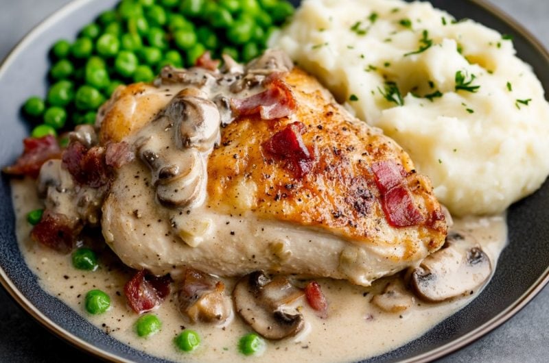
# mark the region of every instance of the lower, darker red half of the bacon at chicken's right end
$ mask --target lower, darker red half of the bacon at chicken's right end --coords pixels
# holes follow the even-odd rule
[[[408,188],[395,186],[382,197],[382,208],[387,221],[393,227],[421,225],[425,216],[414,204]]]

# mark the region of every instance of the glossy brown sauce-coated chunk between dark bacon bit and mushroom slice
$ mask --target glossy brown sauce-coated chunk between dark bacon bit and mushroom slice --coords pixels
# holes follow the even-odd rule
[[[225,285],[213,276],[187,268],[178,293],[179,310],[191,323],[222,323],[231,314]]]

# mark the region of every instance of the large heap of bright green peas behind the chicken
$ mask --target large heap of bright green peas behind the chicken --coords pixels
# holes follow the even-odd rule
[[[32,136],[93,124],[117,86],[150,82],[167,64],[192,66],[207,50],[247,62],[293,11],[285,0],[122,0],[74,42],[51,47],[47,97],[23,105]]]

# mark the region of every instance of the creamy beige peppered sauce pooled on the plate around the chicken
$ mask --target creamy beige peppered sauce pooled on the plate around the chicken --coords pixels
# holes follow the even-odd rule
[[[105,249],[100,253],[100,268],[97,271],[78,271],[71,264],[70,255],[61,255],[32,242],[31,226],[26,221],[30,210],[41,208],[36,196],[36,187],[30,180],[12,181],[12,199],[16,212],[16,227],[19,247],[25,262],[38,277],[40,286],[49,294],[58,297],[94,325],[131,347],[161,358],[185,362],[218,362],[244,360],[239,353],[239,338],[250,332],[237,316],[224,327],[215,325],[188,325],[176,307],[176,297],[169,297],[154,311],[163,323],[159,334],[139,338],[135,333],[137,314],[126,305],[124,284],[130,271],[119,262],[113,253]],[[506,221],[504,216],[463,218],[454,221],[456,231],[468,232],[476,237],[482,249],[489,255],[493,268],[506,244]],[[371,303],[373,295],[384,288],[387,277],[375,281],[366,288],[354,286],[347,281],[318,279],[329,301],[328,318],[318,318],[299,301],[308,329],[294,338],[268,342],[260,357],[246,360],[257,362],[347,362],[369,358],[390,351],[419,338],[436,323],[467,305],[476,295],[469,295],[444,303],[424,303],[414,299],[414,304],[404,312],[383,312]],[[234,281],[225,279],[231,291]],[[100,288],[110,295],[108,312],[93,316],[84,310],[86,292]],[[176,349],[173,338],[184,328],[200,334],[200,348],[192,353]],[[367,342],[367,344],[365,344]]]

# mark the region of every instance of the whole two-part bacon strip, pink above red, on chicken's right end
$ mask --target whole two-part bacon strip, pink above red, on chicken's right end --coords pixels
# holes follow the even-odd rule
[[[410,190],[402,185],[406,171],[400,164],[385,160],[372,165],[375,184],[382,195],[382,208],[393,227],[410,227],[425,223]]]

